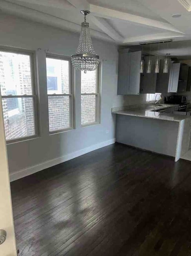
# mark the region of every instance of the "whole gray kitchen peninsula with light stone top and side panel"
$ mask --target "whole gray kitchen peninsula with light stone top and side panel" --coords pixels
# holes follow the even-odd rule
[[[191,117],[173,114],[176,107],[145,104],[113,108],[116,142],[173,156],[178,161],[189,150]],[[160,112],[162,109],[165,112]]]

